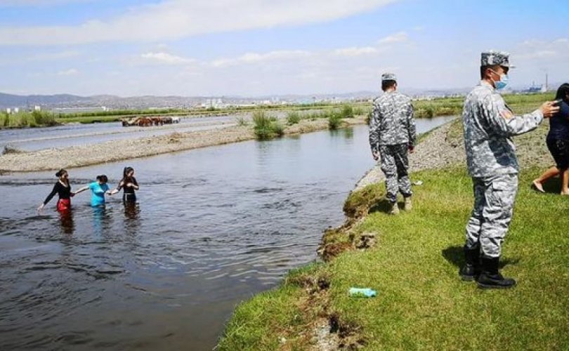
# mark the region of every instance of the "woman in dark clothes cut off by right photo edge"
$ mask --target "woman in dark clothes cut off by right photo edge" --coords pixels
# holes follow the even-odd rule
[[[559,112],[549,119],[549,133],[547,133],[547,148],[555,160],[539,178],[533,181],[533,186],[539,192],[543,190],[543,183],[549,178],[563,173],[561,181],[561,194],[569,195],[569,84],[561,84],[557,89],[555,99],[560,99]]]

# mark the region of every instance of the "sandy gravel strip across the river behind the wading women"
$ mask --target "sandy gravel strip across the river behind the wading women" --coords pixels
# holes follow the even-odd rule
[[[365,123],[363,117],[344,121],[346,125]],[[327,119],[317,119],[287,126],[284,133],[287,135],[310,133],[327,128]],[[0,173],[53,171],[60,168],[91,166],[253,139],[255,139],[253,126],[248,125],[207,131],[174,132],[60,149],[15,152],[0,156]]]

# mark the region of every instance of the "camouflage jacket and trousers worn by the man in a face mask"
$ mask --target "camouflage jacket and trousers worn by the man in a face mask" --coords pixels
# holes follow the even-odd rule
[[[502,95],[481,81],[466,96],[462,119],[475,198],[466,225],[466,249],[480,245],[483,257],[498,258],[518,190],[519,166],[511,136],[537,128],[543,114],[535,110],[514,116]]]

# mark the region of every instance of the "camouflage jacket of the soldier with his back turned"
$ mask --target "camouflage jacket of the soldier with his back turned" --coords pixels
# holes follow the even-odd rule
[[[372,119],[369,121],[369,146],[372,152],[377,152],[379,145],[414,145],[416,138],[413,106],[409,97],[391,91],[375,99]]]

